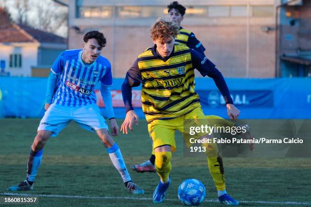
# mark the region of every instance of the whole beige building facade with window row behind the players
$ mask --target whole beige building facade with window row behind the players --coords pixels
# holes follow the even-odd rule
[[[59,1],[58,1],[59,2]],[[135,58],[152,45],[150,26],[167,15],[170,1],[60,1],[69,6],[69,48],[81,48],[83,34],[100,30],[103,55],[113,76],[124,77]],[[182,26],[192,30],[206,56],[225,77],[275,77],[276,0],[180,0]]]

